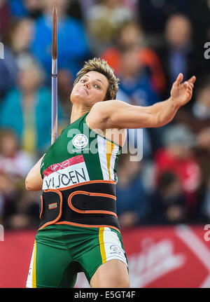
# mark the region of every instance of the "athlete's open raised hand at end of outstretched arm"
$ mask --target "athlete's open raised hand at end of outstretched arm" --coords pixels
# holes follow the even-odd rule
[[[172,85],[171,90],[171,98],[174,102],[175,107],[179,108],[185,104],[187,104],[192,95],[193,95],[193,87],[196,81],[195,76],[192,76],[188,81],[181,83],[183,81],[183,74],[179,74],[177,76],[176,81]]]

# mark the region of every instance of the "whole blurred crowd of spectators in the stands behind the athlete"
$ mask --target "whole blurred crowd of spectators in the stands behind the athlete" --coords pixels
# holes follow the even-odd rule
[[[143,159],[118,163],[122,228],[210,221],[210,41],[208,0],[1,0],[0,224],[36,228],[41,192],[25,177],[50,146],[52,7],[58,23],[58,132],[69,124],[69,95],[85,60],[102,57],[120,78],[117,99],[150,106],[167,99],[182,72],[193,99],[161,128],[128,141]]]

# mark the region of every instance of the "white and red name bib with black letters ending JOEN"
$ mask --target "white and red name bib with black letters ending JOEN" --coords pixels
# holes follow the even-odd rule
[[[43,171],[43,190],[48,188],[65,188],[73,184],[89,181],[83,155],[74,156],[62,163],[50,165]]]

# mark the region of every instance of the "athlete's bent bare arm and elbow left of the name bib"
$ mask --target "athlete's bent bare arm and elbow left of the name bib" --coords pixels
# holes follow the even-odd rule
[[[41,178],[40,173],[40,165],[42,158],[38,160],[36,165],[34,165],[34,167],[32,167],[29,173],[27,174],[27,177],[25,179],[25,188],[27,189],[27,191],[41,191],[42,189],[43,179]]]

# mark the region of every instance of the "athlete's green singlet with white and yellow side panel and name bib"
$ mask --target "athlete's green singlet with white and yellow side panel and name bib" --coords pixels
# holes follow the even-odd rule
[[[122,147],[91,130],[85,121],[87,114],[64,128],[45,153],[41,163],[43,190],[93,180],[117,182]]]

